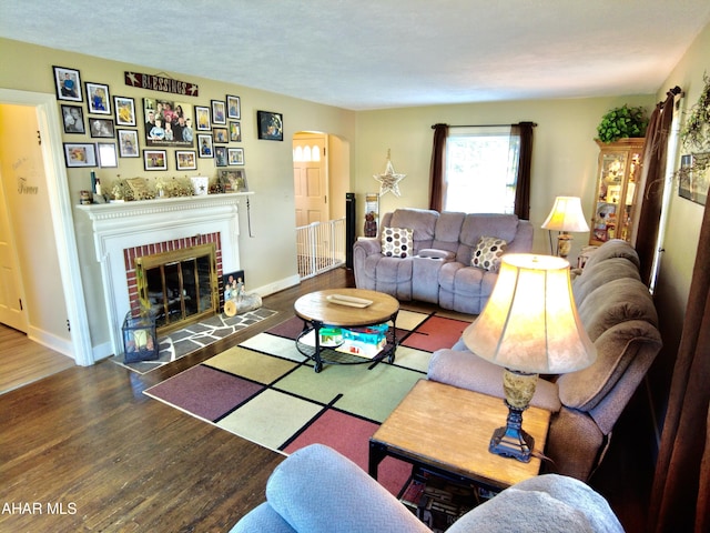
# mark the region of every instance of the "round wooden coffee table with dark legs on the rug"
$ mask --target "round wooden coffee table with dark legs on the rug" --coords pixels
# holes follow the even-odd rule
[[[385,358],[393,363],[395,360],[399,302],[389,294],[364,289],[327,289],[301,296],[294,303],[294,311],[303,320],[303,331],[296,339],[296,348],[315,362],[316,372],[321,372],[323,363],[363,364]],[[334,346],[321,345],[320,333],[324,326],[365,328],[385,322],[392,322],[392,328],[387,330],[387,345],[373,359],[336,352],[332,349]],[[304,336],[312,331],[315,345],[303,342]]]

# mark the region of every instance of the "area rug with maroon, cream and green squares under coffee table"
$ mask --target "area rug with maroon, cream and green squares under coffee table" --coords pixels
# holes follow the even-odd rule
[[[291,318],[149,390],[145,394],[256,444],[290,454],[318,442],[367,470],[369,438],[426,378],[432,352],[452,346],[467,321],[402,310],[393,364],[325,364],[297,349]],[[387,457],[379,482],[396,494],[410,466]]]

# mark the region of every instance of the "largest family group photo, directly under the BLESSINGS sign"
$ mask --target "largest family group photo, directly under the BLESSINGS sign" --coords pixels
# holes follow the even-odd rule
[[[192,148],[194,145],[192,104],[144,98],[143,117],[148,147]]]

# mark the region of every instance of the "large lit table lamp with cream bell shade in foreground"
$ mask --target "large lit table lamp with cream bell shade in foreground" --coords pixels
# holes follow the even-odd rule
[[[463,338],[476,355],[506,369],[508,419],[495,430],[489,451],[529,462],[535,441],[523,430],[523,411],[538,374],[574,372],[597,358],[577,313],[569,263],[551,255],[504,255],[490,299]]]

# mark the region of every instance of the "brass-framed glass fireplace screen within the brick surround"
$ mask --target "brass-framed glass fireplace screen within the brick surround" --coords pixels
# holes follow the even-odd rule
[[[219,309],[214,244],[138,258],[135,276],[141,308],[155,318],[159,332],[211,316]]]

